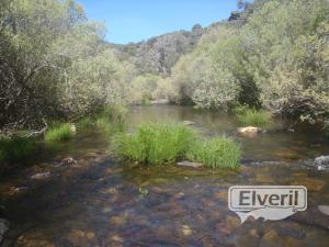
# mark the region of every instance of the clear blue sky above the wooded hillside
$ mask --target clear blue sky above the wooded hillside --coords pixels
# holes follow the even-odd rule
[[[126,44],[227,19],[237,0],[77,0],[90,20],[105,22],[106,40]]]

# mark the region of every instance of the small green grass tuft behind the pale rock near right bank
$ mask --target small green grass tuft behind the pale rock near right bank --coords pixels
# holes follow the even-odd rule
[[[271,123],[271,113],[264,110],[247,109],[237,114],[245,125],[266,126]]]

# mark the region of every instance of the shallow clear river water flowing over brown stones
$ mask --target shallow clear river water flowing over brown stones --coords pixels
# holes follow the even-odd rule
[[[30,167],[1,178],[0,217],[11,223],[3,246],[328,246],[329,216],[317,206],[329,205],[329,173],[304,166],[329,155],[325,133],[277,120],[266,133],[243,137],[234,116],[173,105],[133,108],[127,125],[173,120],[192,121],[204,135],[235,138],[243,150],[241,168],[123,168],[107,155],[109,136],[81,133],[42,146]],[[65,157],[78,162],[56,167]],[[37,172],[50,176],[31,179]],[[308,210],[241,225],[227,207],[227,190],[237,184],[306,186]]]

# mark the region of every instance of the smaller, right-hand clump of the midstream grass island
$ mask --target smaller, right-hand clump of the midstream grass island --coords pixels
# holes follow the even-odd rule
[[[186,157],[212,168],[236,168],[239,166],[240,147],[227,137],[197,139],[191,145]]]

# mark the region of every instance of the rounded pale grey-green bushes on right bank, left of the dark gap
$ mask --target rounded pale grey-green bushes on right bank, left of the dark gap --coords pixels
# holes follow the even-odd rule
[[[227,33],[230,31],[223,30],[220,38],[225,40]],[[224,65],[226,55],[215,57],[215,48],[212,43],[202,41],[192,54],[178,61],[169,79],[172,101],[186,102],[192,99],[197,108],[224,110],[237,101],[240,86]]]

